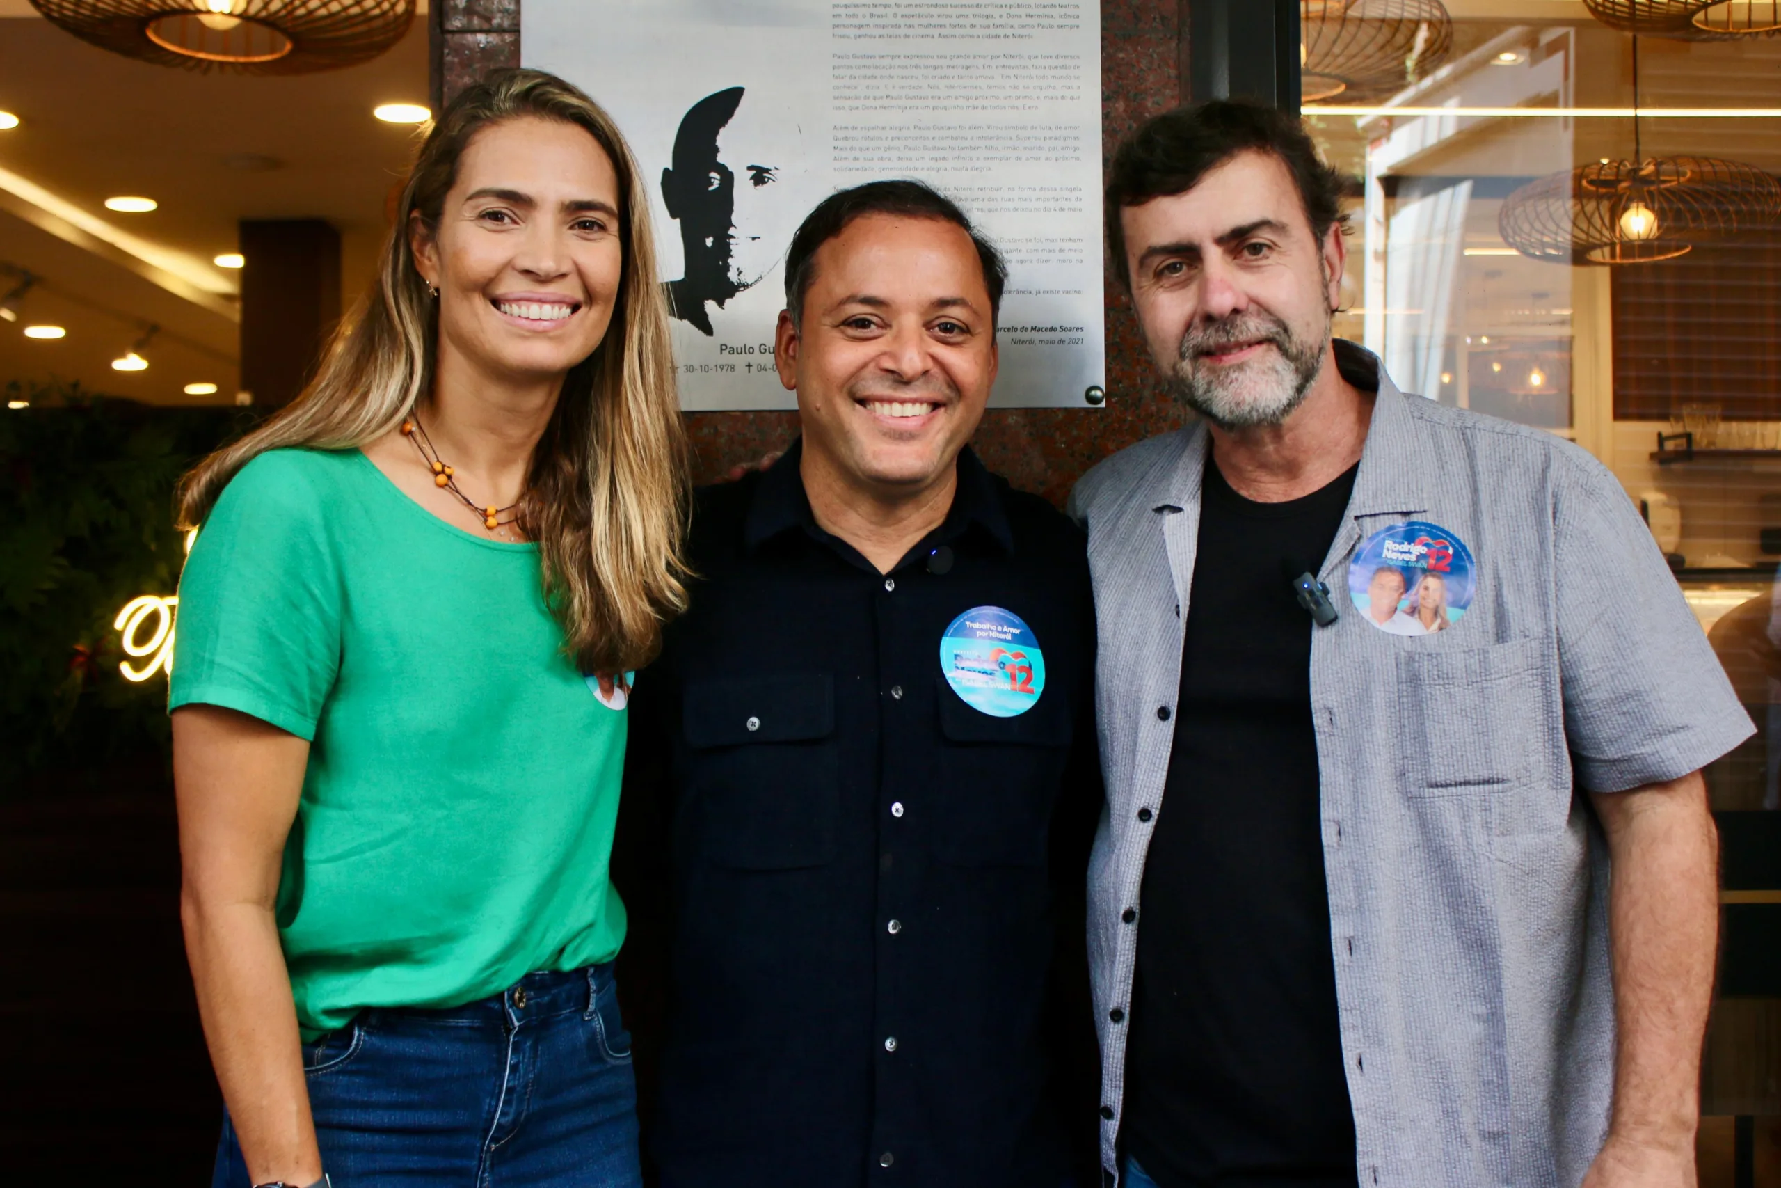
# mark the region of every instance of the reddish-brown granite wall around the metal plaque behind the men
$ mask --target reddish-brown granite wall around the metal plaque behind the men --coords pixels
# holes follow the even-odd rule
[[[1102,159],[1122,135],[1181,94],[1181,12],[1184,0],[1102,0],[1101,135]],[[520,61],[520,0],[442,0],[435,9],[435,103],[488,69]],[[992,470],[1024,490],[1061,502],[1076,477],[1108,454],[1181,424],[1163,395],[1131,305],[1108,276],[1108,403],[1099,408],[992,408],[974,445]],[[784,449],[798,433],[796,413],[687,413],[698,481],[732,465]]]

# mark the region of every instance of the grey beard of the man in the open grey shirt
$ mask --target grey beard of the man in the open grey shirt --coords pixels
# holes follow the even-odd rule
[[[1257,337],[1272,342],[1275,353],[1222,370],[1197,365],[1208,347]],[[1181,338],[1168,387],[1177,401],[1220,429],[1277,426],[1311,394],[1323,370],[1327,342],[1329,321],[1318,342],[1300,340],[1286,322],[1266,313],[1195,326]]]

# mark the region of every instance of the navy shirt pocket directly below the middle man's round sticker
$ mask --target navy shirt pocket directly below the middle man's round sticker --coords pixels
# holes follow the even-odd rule
[[[953,866],[1044,866],[1072,741],[1069,702],[1040,695],[1024,714],[996,718],[960,700],[944,677],[937,684],[942,743],[930,853]]]

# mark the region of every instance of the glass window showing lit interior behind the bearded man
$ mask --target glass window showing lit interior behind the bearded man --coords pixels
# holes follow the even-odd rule
[[[1407,392],[1574,440],[1646,513],[1758,727],[1708,769],[1728,915],[1703,1104],[1781,1115],[1776,962],[1740,949],[1781,912],[1781,36],[1640,36],[1635,100],[1633,37],[1582,4],[1446,7],[1439,66],[1305,105],[1350,178],[1336,333]]]

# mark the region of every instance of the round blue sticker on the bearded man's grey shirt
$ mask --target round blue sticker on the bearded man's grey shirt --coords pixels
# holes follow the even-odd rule
[[[1393,636],[1432,636],[1455,625],[1476,590],[1471,549],[1439,524],[1384,527],[1348,563],[1348,598]]]

